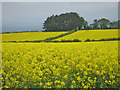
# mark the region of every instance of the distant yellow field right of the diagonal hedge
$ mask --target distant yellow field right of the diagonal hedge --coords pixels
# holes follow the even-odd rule
[[[118,29],[110,29],[110,30],[79,30],[70,35],[66,35],[64,37],[55,39],[56,41],[61,40],[74,40],[79,39],[81,41],[85,41],[86,39],[108,39],[108,38],[118,38]]]

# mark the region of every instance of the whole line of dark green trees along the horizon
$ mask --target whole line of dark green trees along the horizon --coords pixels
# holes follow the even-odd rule
[[[110,22],[110,20],[101,18],[95,19],[88,25],[88,22],[80,17],[76,12],[64,13],[60,15],[52,15],[43,23],[43,29],[46,32],[53,31],[70,31],[70,30],[90,30],[90,29],[118,29],[119,21]]]

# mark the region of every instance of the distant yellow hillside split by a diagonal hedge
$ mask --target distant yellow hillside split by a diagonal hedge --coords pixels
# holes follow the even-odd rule
[[[22,32],[22,33],[5,33],[2,34],[2,42],[20,41],[20,42],[34,42],[34,41],[55,41],[61,42],[66,40],[73,41],[78,39],[80,41],[101,40],[118,38],[118,29],[104,29],[104,30],[78,30],[69,32]]]

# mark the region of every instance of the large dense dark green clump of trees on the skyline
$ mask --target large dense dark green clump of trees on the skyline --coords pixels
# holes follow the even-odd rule
[[[88,22],[75,12],[52,15],[43,23],[45,31],[70,31],[86,29]]]

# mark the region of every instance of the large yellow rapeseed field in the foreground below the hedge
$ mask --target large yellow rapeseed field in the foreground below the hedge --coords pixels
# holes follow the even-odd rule
[[[3,88],[116,88],[118,76],[118,41],[2,44]]]

